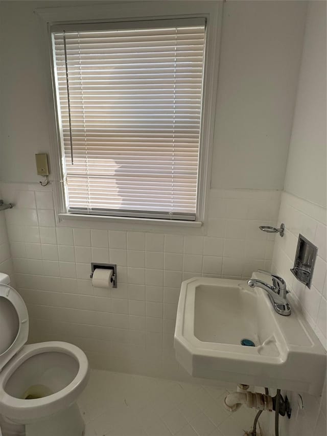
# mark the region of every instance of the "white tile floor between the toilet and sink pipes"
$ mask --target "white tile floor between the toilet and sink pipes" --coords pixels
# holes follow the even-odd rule
[[[85,436],[243,436],[255,410],[229,414],[224,388],[92,370],[79,399]]]

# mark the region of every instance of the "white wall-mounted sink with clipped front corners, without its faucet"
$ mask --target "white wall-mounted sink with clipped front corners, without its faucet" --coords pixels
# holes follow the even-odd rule
[[[267,281],[257,272],[252,278]],[[194,377],[320,395],[326,353],[290,305],[290,316],[277,314],[266,292],[246,281],[186,280],[178,302],[176,358]],[[255,346],[242,346],[242,339]]]

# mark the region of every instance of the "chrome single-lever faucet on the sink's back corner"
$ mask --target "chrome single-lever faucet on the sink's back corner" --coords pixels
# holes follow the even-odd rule
[[[275,274],[271,274],[268,271],[263,271],[262,269],[258,269],[258,272],[262,272],[263,274],[270,276],[272,278],[272,285],[269,285],[268,283],[258,279],[251,279],[247,282],[247,284],[251,288],[258,286],[258,288],[264,289],[269,296],[273,308],[277,313],[279,313],[279,315],[290,315],[291,306],[286,300],[286,294],[288,293],[288,290],[286,289],[285,280],[282,277],[275,276]]]

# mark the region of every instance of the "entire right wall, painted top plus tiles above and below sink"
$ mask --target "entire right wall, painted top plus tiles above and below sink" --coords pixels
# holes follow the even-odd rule
[[[309,2],[285,191],[278,222],[285,223],[286,232],[275,240],[272,271],[286,279],[293,299],[327,348],[325,2]],[[311,289],[290,272],[299,233],[318,247]],[[288,396],[293,415],[291,420],[281,419],[282,434],[325,436],[326,385],[321,397],[302,395],[303,410],[298,409],[296,393]],[[273,434],[272,423],[270,428]]]

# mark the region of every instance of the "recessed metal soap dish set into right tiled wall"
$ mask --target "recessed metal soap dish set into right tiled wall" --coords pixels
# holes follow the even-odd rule
[[[298,236],[294,267],[291,272],[301,283],[311,287],[318,248],[301,234]]]

